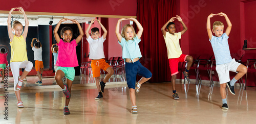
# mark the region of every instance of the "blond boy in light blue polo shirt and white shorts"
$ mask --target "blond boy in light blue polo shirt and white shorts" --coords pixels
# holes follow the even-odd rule
[[[227,29],[225,33],[224,24],[221,21],[215,21],[213,24],[213,29],[210,29],[210,18],[213,16],[224,16],[227,21]],[[207,33],[209,40],[214,50],[214,55],[216,58],[216,71],[220,80],[220,93],[222,98],[222,109],[228,109],[226,100],[226,86],[229,91],[234,95],[234,83],[242,78],[247,72],[247,67],[241,63],[236,62],[230,56],[229,46],[228,46],[228,35],[231,31],[232,24],[225,13],[210,14],[207,18]],[[212,33],[215,36],[212,35]],[[237,75],[230,81],[229,71],[237,72]]]

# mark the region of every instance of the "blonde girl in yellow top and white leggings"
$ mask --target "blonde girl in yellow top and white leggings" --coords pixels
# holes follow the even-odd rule
[[[13,21],[11,26],[11,14],[16,9],[24,15],[24,19],[26,23],[24,32],[23,32],[22,23],[20,23],[19,21]],[[20,88],[22,87],[23,79],[28,75],[29,71],[31,71],[33,67],[32,62],[28,61],[28,57],[27,57],[26,37],[28,34],[29,21],[23,8],[21,7],[12,8],[11,11],[9,12],[7,24],[8,24],[7,28],[8,28],[9,38],[10,38],[10,45],[11,45],[10,64],[11,64],[11,70],[12,70],[12,75],[14,79],[14,91],[18,100],[18,103],[17,103],[18,108],[23,108],[24,106],[23,106],[22,100],[20,99]],[[19,76],[19,68],[25,68],[22,76]]]

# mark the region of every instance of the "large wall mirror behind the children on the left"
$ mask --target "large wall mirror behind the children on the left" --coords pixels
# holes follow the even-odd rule
[[[10,39],[8,37],[8,31],[7,31],[7,17],[8,14],[0,14],[0,44],[6,45],[10,49]],[[88,28],[90,22],[92,19],[96,18],[101,21],[103,26],[108,30],[108,35],[106,37],[104,44],[104,54],[105,54],[105,60],[108,61],[109,64],[112,65],[113,69],[115,70],[114,75],[111,77],[109,82],[123,82],[125,81],[124,77],[124,66],[122,61],[122,52],[121,52],[121,46],[118,44],[116,35],[115,35],[115,26],[118,18],[100,18],[100,17],[83,17],[83,16],[58,16],[58,15],[30,15],[27,14],[28,20],[29,20],[29,31],[28,36],[26,38],[27,42],[27,55],[28,60],[33,63],[33,69],[30,71],[29,75],[27,76],[27,81],[24,82],[24,87],[30,87],[30,86],[38,86],[38,84],[35,84],[37,82],[37,73],[35,71],[35,65],[34,65],[34,53],[32,51],[31,42],[33,38],[37,38],[42,46],[42,61],[44,63],[44,72],[42,73],[42,85],[57,85],[56,82],[54,82],[54,58],[53,54],[51,52],[51,46],[52,44],[55,44],[56,41],[54,39],[53,30],[56,26],[56,24],[61,20],[62,18],[70,18],[77,20],[84,31]],[[18,20],[22,22],[23,26],[25,26],[25,20],[24,16],[22,14],[12,14],[12,20]],[[121,26],[124,26],[124,24],[130,23],[130,21],[123,21],[121,23]],[[73,24],[72,21],[65,21],[61,24],[61,27],[68,26],[73,29],[74,35],[73,38],[77,37],[79,35],[77,25]],[[59,30],[61,29],[59,28]],[[98,27],[100,30],[100,36],[103,34],[103,31],[100,28],[100,25],[97,22],[94,22],[92,25],[93,27]],[[91,31],[90,31],[91,32]],[[89,33],[90,33],[89,32]],[[102,32],[102,34],[101,34]],[[35,43],[36,41],[34,41]],[[33,44],[34,44],[33,43]],[[55,45],[54,45],[55,46]],[[53,47],[54,47],[53,46]],[[90,67],[90,51],[89,51],[89,43],[86,40],[86,35],[82,38],[82,40],[79,42],[78,46],[76,47],[77,50],[77,59],[79,66],[75,67],[76,71],[76,78],[73,83],[95,83],[95,80],[92,76],[92,69]],[[10,53],[8,54],[7,60],[10,64]],[[82,67],[82,68],[81,68]],[[22,70],[22,69],[20,69]],[[9,82],[11,87],[13,86],[13,78],[10,71],[10,78]],[[21,72],[21,71],[20,71]],[[101,80],[103,80],[106,72],[103,70],[101,71]],[[64,79],[63,79],[64,80]],[[1,84],[3,85],[3,84]],[[4,87],[4,86],[1,86]],[[1,88],[0,87],[0,88]]]

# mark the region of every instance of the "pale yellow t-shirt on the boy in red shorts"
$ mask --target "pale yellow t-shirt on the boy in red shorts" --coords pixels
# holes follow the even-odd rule
[[[165,37],[163,36],[163,38],[167,47],[168,59],[179,58],[182,54],[179,41],[181,33],[178,32],[172,35],[169,32],[166,32]]]

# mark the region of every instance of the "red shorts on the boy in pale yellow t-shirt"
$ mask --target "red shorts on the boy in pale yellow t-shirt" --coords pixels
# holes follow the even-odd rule
[[[177,73],[179,73],[178,64],[179,64],[179,62],[185,62],[187,56],[188,55],[181,54],[179,58],[168,59],[171,76],[174,76]]]

